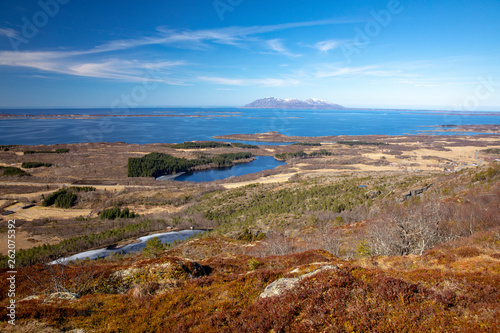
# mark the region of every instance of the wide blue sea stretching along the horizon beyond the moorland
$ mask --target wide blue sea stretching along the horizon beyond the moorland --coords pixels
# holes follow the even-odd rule
[[[498,124],[491,115],[436,114],[387,110],[275,110],[236,108],[150,108],[150,109],[2,109],[9,114],[109,114],[175,117],[103,117],[98,119],[6,119],[0,120],[0,144],[56,144],[117,142],[147,144],[211,140],[224,134],[253,134],[277,131],[293,136],[403,135],[444,124]],[[481,114],[484,114],[482,112]],[[182,115],[206,117],[179,117]]]

